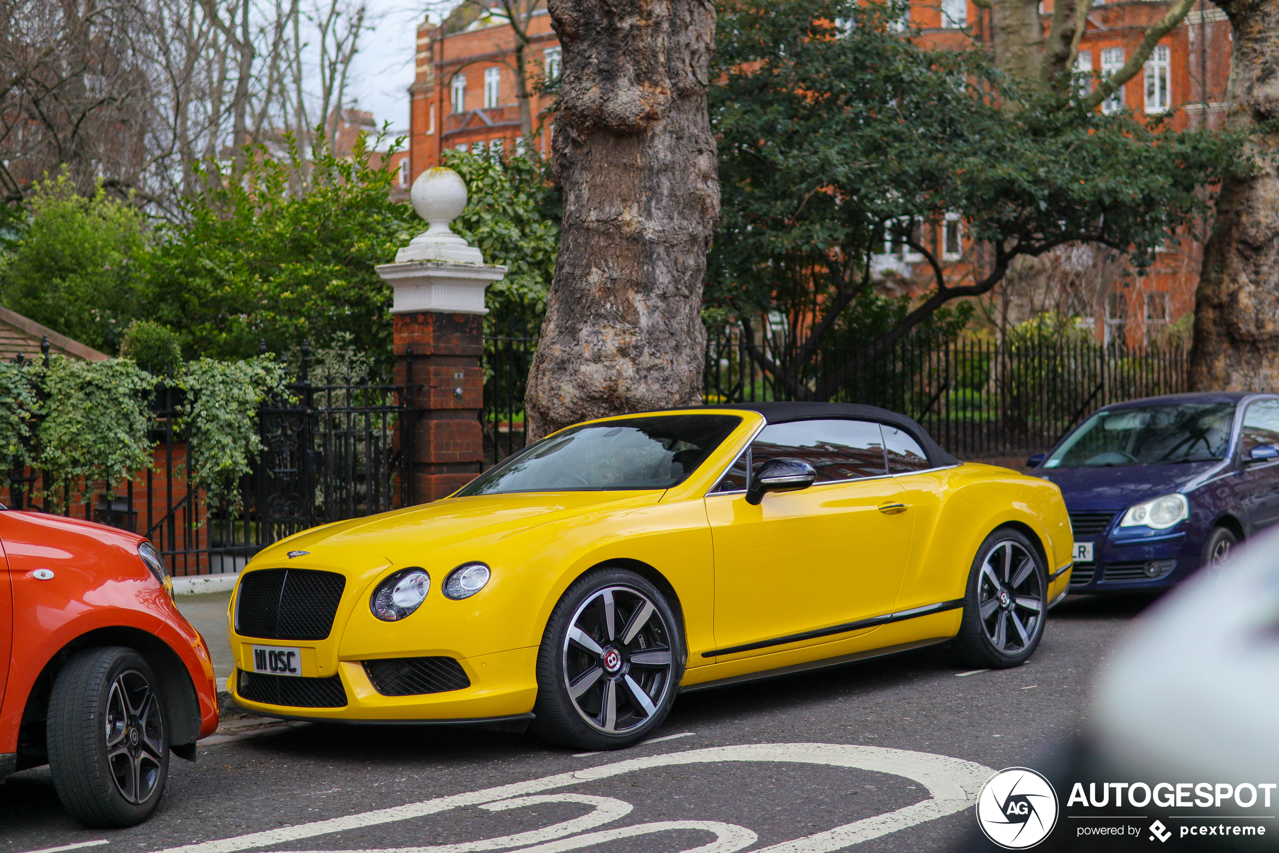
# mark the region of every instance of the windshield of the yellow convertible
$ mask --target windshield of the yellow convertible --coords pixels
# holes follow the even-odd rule
[[[524,448],[458,496],[670,489],[741,422],[732,414],[668,414],[572,427]]]

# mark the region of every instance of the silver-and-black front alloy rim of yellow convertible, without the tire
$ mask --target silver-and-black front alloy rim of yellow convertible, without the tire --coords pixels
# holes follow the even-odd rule
[[[564,685],[582,720],[605,734],[647,723],[670,692],[670,625],[645,593],[609,586],[573,614],[564,638]]]

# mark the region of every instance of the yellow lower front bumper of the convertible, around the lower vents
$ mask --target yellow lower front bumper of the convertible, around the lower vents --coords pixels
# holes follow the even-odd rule
[[[242,659],[239,650],[237,652],[237,657]],[[240,692],[240,678],[246,674],[253,678],[253,674],[244,671],[243,660],[237,661],[235,674],[226,679],[226,689],[235,705],[246,711],[286,720],[463,725],[523,720],[527,725],[537,698],[536,646],[462,659],[458,664],[466,671],[469,687],[414,696],[384,696],[370,680],[363,661],[339,661],[335,677],[341,680],[347,702],[341,707],[270,705],[249,700]]]

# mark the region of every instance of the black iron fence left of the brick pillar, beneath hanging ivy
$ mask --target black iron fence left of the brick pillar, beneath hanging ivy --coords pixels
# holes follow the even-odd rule
[[[152,467],[114,490],[79,483],[61,496],[60,512],[146,536],[180,577],[238,572],[265,546],[308,527],[414,504],[400,446],[416,422],[416,386],[317,379],[289,385],[284,399],[258,411],[263,450],[239,481],[238,504],[211,505],[188,482],[182,393],[161,386]],[[14,473],[8,505],[59,512],[41,472]]]

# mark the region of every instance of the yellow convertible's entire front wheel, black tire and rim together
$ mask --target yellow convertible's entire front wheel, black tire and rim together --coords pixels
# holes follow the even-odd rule
[[[533,732],[581,749],[643,740],[675,702],[684,655],[679,620],[657,587],[625,569],[590,572],[546,623]]]

